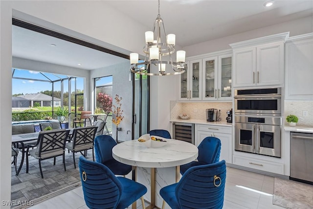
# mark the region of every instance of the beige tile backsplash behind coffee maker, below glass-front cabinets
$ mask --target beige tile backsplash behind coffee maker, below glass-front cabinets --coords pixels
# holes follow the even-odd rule
[[[232,108],[231,102],[177,102],[171,101],[171,119],[180,119],[179,114],[188,114],[191,119],[206,120],[205,109],[221,110],[221,121],[226,121],[227,110]]]

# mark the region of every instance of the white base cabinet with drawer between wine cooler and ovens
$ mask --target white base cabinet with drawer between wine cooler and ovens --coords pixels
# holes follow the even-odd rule
[[[196,124],[195,135],[196,146],[199,146],[201,141],[206,137],[216,137],[220,139],[222,144],[220,160],[225,160],[226,163],[232,163],[231,127]]]

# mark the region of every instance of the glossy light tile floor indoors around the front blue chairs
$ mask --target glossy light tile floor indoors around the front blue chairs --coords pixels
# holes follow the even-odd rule
[[[227,167],[224,209],[282,209],[272,204],[274,177]],[[140,200],[137,208],[141,208]],[[31,209],[88,209],[81,186]]]

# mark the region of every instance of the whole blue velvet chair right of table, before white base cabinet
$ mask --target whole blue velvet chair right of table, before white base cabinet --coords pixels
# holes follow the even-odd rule
[[[180,165],[180,174],[192,166],[216,163],[220,160],[221,140],[216,137],[204,138],[198,146],[198,161]]]

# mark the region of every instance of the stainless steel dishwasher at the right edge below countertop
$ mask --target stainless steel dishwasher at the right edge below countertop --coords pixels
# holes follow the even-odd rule
[[[290,179],[313,184],[313,134],[290,133]]]

